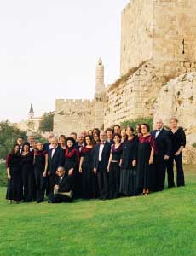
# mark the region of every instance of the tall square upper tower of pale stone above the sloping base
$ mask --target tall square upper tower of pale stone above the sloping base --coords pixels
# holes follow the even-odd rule
[[[131,0],[122,13],[121,75],[150,59],[196,61],[195,13],[195,0]]]

